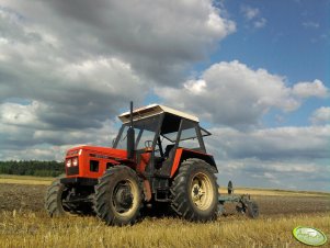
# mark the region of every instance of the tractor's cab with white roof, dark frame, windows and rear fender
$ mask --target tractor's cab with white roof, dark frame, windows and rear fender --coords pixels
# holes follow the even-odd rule
[[[113,148],[125,149],[130,113],[118,117],[123,125]],[[140,165],[141,157],[149,158],[144,168],[138,168],[145,177],[171,178],[178,169],[178,162],[187,156],[206,160],[216,169],[203,140],[210,133],[200,126],[197,117],[153,104],[133,112],[133,126],[136,134],[136,164]]]

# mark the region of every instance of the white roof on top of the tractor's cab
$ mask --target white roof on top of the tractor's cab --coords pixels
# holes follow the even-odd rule
[[[180,117],[184,117],[194,122],[200,122],[198,117],[178,111],[178,110],[173,110],[171,108],[164,106],[164,105],[159,105],[159,104],[151,104],[151,105],[147,105],[144,108],[139,108],[133,111],[133,120],[137,121],[140,119],[145,119],[145,117],[149,117],[152,115],[158,115],[161,113],[170,113]],[[118,115],[118,119],[123,122],[123,123],[127,123],[129,122],[129,112],[125,112],[121,115]]]

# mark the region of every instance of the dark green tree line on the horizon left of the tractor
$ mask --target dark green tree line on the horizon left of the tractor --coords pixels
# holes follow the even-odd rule
[[[58,161],[39,160],[0,161],[0,173],[36,177],[57,177],[61,173],[65,173],[65,164]]]

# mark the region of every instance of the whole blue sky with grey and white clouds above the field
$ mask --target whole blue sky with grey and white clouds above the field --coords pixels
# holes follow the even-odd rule
[[[162,103],[213,136],[219,182],[330,191],[330,1],[0,0],[0,160],[109,146]]]

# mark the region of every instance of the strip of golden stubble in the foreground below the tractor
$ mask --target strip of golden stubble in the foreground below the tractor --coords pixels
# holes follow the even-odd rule
[[[292,230],[312,226],[330,234],[330,216],[226,218],[206,224],[147,218],[109,227],[95,217],[49,218],[44,212],[0,213],[1,247],[299,247]],[[304,246],[301,246],[304,247]]]

